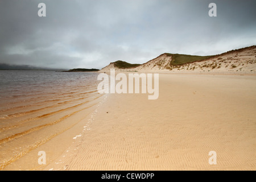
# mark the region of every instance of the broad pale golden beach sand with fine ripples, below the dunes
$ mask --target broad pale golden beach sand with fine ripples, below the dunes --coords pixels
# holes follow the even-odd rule
[[[255,170],[255,93],[256,76],[160,74],[158,100],[106,94],[44,169]]]

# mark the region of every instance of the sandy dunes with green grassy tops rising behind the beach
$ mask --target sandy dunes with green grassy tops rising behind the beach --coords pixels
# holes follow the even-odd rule
[[[120,64],[119,64],[120,63]],[[122,65],[125,66],[122,66]],[[134,65],[131,67],[129,65]],[[197,56],[163,53],[144,64],[116,61],[101,69],[109,72],[248,72],[256,73],[256,46],[235,49],[220,55]]]

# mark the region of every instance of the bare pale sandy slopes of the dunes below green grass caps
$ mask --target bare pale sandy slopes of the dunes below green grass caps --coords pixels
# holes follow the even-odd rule
[[[136,68],[121,69],[110,63],[100,72],[115,69],[119,72],[171,72],[171,73],[256,73],[256,46],[246,47],[191,63],[172,64],[171,54],[163,53]]]

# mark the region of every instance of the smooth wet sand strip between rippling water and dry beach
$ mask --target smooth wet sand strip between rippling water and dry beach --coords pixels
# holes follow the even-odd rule
[[[43,140],[39,143],[39,146],[33,148],[31,151],[28,151],[25,155],[21,156],[18,159],[15,159],[13,162],[5,166],[2,171],[13,171],[13,170],[22,170],[22,171],[42,171],[46,165],[52,163],[59,155],[61,155],[67,147],[69,147],[73,142],[73,137],[79,135],[82,130],[82,126],[86,125],[88,121],[86,118],[90,117],[90,114],[97,108],[97,105],[103,100],[104,95],[97,98],[94,101],[90,101],[89,104],[86,104],[86,109],[76,110],[74,114],[71,114],[68,117],[67,121],[62,121],[57,123],[59,127],[65,126],[68,123],[68,127],[53,136],[49,135],[49,138]],[[49,132],[52,129],[46,129],[44,132]],[[40,132],[40,131],[39,131]],[[46,152],[46,165],[39,165],[39,151]],[[0,171],[1,171],[0,170]]]

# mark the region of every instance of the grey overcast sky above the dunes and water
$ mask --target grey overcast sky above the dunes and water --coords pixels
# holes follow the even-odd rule
[[[38,4],[46,4],[46,17]],[[210,17],[209,3],[217,5]],[[0,0],[0,63],[98,68],[256,45],[256,1]]]

